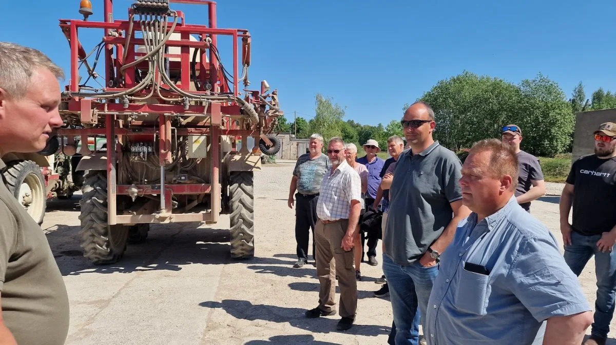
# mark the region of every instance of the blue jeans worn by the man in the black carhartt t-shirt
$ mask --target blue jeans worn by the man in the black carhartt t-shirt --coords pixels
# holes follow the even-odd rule
[[[594,272],[597,276],[597,299],[594,302],[594,322],[591,334],[607,339],[610,322],[614,316],[614,296],[616,292],[616,254],[603,253],[597,248],[601,235],[583,236],[571,232],[571,245],[565,245],[565,262],[576,276],[580,276],[584,266],[594,255]]]

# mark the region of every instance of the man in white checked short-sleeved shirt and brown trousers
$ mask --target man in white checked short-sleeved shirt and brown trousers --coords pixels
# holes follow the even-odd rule
[[[362,182],[346,162],[346,149],[341,138],[331,138],[327,156],[330,158],[331,167],[321,182],[317,203],[318,221],[314,235],[317,242],[317,276],[320,283],[318,307],[307,311],[306,317],[336,314],[334,277],[337,275],[340,287],[339,312],[342,317],[337,328],[345,331],[352,327],[357,311],[353,237],[362,209]]]

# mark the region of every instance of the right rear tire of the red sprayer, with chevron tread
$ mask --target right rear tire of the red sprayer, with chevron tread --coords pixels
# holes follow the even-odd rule
[[[253,172],[231,172],[229,176],[230,242],[233,258],[254,256]]]

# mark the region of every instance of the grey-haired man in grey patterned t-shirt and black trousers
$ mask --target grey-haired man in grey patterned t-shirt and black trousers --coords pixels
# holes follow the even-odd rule
[[[320,134],[310,136],[309,153],[299,156],[293,170],[289,187],[289,208],[293,208],[293,194],[298,205],[295,208],[295,240],[298,244],[298,261],[294,268],[301,268],[308,263],[308,242],[312,230],[312,258],[315,256],[314,226],[317,223],[317,202],[323,176],[330,167],[330,160],[321,153],[323,137]]]

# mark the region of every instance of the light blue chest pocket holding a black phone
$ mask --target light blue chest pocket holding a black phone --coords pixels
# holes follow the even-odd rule
[[[460,268],[458,287],[455,289],[456,309],[475,315],[487,314],[487,299],[490,296],[490,276]]]

